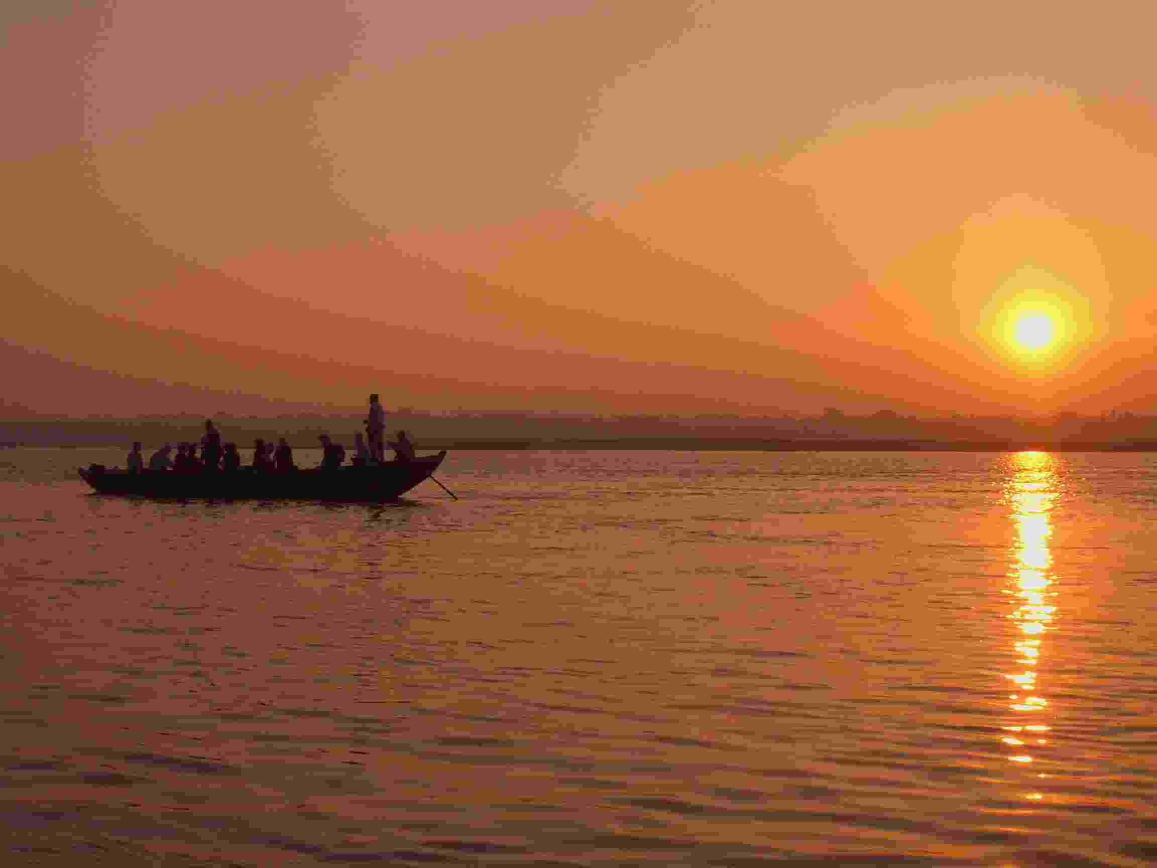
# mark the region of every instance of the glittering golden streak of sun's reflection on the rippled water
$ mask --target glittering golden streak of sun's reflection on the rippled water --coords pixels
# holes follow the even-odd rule
[[[1004,593],[1014,602],[1007,617],[1017,627],[1012,646],[1017,663],[1016,670],[1005,675],[1011,687],[1011,714],[1003,727],[1002,741],[1008,746],[1009,762],[1024,766],[1037,759],[1052,730],[1048,723],[1052,712],[1040,684],[1040,671],[1045,639],[1056,613],[1049,539],[1059,488],[1056,459],[1048,453],[1016,453],[1008,457],[1004,501],[1017,537]],[[1037,772],[1036,777],[1045,778],[1045,773]],[[1024,797],[1039,800],[1042,794],[1030,792]]]

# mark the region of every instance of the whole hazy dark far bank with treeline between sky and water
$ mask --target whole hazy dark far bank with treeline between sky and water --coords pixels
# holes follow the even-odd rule
[[[242,443],[286,437],[294,448],[317,448],[318,435],[354,442],[364,414],[293,414],[277,418],[214,413],[223,436]],[[0,421],[0,443],[27,446],[120,446],[196,441],[205,415],[132,419],[23,419]],[[815,415],[589,415],[565,413],[428,413],[411,407],[385,411],[391,431],[412,431],[426,448],[550,447],[567,441],[584,446],[662,446],[708,448],[727,441],[923,441],[944,443],[1142,443],[1157,444],[1157,415],[1115,412],[1100,415],[1060,413],[1049,417],[904,415],[880,410],[854,415],[832,407]]]

